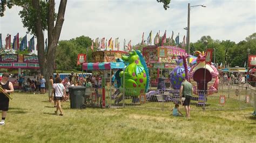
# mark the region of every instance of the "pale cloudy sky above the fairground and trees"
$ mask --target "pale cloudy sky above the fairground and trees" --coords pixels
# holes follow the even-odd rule
[[[256,31],[255,0],[207,0],[183,1],[172,0],[170,8],[164,10],[163,3],[156,0],[69,0],[66,5],[65,20],[59,40],[69,40],[85,35],[91,39],[109,40],[119,38],[120,47],[126,39],[132,45],[144,40],[152,30],[152,41],[160,31],[163,36],[174,37],[180,34],[180,42],[186,35],[188,3],[204,4],[206,8],[196,6],[190,9],[190,41],[196,42],[204,35],[214,40],[231,40],[238,43]],[[56,11],[59,0],[56,1]],[[19,32],[19,37],[26,34],[18,12],[21,8],[14,6],[6,9],[0,18],[2,43],[5,37]],[[45,31],[45,38],[47,32]],[[32,35],[28,34],[28,40]]]

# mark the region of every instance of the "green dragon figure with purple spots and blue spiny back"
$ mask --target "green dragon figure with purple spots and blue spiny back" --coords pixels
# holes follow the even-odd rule
[[[120,71],[119,76],[124,80],[122,87],[125,88],[125,96],[138,97],[149,88],[149,70],[140,51],[132,50],[129,56],[122,55],[124,62],[129,62],[125,71]]]

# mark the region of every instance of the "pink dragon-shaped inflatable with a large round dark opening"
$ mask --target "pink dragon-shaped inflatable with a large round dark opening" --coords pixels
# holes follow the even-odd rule
[[[197,64],[190,70],[190,82],[193,85],[194,94],[197,90],[208,90],[207,95],[211,95],[218,90],[219,78],[218,70],[210,63],[206,63],[206,54],[196,51],[198,54]]]

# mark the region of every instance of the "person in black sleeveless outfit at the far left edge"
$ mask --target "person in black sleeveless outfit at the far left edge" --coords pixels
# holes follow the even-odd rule
[[[0,84],[0,87],[3,88],[3,92],[0,92],[0,110],[2,110],[2,120],[0,121],[0,125],[4,125],[4,120],[9,109],[9,98],[4,94],[10,95],[10,92],[14,92],[14,85],[8,81],[8,78],[9,74],[3,73]]]

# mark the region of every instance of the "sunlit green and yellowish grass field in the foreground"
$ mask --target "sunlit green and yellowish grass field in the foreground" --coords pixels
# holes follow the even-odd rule
[[[48,95],[13,94],[1,142],[255,142],[252,109],[191,112],[191,119],[170,111],[70,109],[54,115]],[[184,113],[184,110],[182,110]]]

